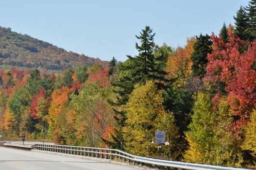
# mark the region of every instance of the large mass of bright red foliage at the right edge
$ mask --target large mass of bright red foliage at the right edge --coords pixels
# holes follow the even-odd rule
[[[209,63],[205,81],[216,87],[215,102],[227,94],[232,114],[237,118],[232,124],[238,131],[247,123],[256,102],[256,42],[247,43],[229,32],[229,42],[212,34],[213,52],[208,55]],[[248,46],[248,50],[244,49]]]

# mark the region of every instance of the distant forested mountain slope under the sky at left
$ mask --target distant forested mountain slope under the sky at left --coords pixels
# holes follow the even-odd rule
[[[0,27],[0,67],[42,68],[64,70],[87,64],[92,66],[108,62],[84,54],[66,51],[48,42],[29,35],[12,32],[10,28]]]

